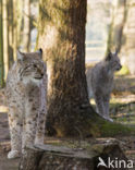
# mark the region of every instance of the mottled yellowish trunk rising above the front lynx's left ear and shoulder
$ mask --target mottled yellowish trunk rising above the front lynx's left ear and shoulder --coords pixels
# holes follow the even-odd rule
[[[8,32],[10,65],[16,60],[16,49],[21,45],[22,0],[8,0]]]

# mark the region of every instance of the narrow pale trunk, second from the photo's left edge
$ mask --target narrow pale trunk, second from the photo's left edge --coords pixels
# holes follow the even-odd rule
[[[8,35],[8,0],[3,0],[3,53],[4,53],[4,80],[9,71],[9,35]]]

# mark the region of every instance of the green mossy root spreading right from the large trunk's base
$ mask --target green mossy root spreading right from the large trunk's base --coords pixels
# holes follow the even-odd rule
[[[85,133],[94,137],[115,137],[135,135],[135,125],[125,125],[122,123],[106,121],[96,112],[84,123]],[[85,134],[83,132],[83,134]]]

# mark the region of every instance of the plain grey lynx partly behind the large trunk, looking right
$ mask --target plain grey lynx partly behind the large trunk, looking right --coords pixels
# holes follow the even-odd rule
[[[105,119],[112,121],[109,117],[110,94],[113,86],[114,72],[121,70],[122,65],[118,52],[111,53],[86,72],[88,97],[94,97],[97,112]]]

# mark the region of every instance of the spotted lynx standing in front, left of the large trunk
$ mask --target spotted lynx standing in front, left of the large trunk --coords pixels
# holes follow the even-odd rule
[[[47,114],[47,74],[42,50],[17,52],[17,61],[7,80],[11,151],[8,158],[20,157],[26,146],[44,143]]]

